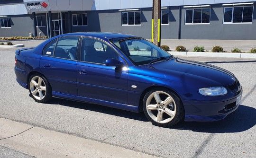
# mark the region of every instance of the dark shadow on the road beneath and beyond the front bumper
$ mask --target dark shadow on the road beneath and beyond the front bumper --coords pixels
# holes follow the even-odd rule
[[[238,109],[225,119],[216,122],[183,122],[172,129],[191,130],[207,133],[243,132],[256,125],[256,109],[246,105],[239,105]]]

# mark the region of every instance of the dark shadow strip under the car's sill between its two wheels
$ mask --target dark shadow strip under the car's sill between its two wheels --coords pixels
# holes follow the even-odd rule
[[[112,107],[90,104],[90,103],[81,103],[76,101],[64,100],[59,98],[53,98],[52,101],[48,102],[47,104],[59,104],[84,110],[90,110],[98,113],[104,114],[111,114],[115,116],[120,116],[124,118],[139,120],[143,122],[148,122],[144,113],[133,113],[125,110],[120,110]]]

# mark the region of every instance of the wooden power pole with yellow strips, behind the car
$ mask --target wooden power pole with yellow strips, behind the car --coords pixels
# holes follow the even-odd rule
[[[161,0],[153,0],[151,42],[161,46]]]

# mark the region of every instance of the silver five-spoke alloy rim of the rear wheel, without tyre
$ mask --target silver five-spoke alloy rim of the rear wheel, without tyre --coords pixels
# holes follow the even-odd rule
[[[37,100],[42,100],[46,97],[46,83],[39,76],[35,76],[30,81],[30,91]]]

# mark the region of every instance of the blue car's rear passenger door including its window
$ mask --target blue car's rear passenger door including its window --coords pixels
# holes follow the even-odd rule
[[[76,48],[79,36],[60,37],[46,45],[40,69],[55,92],[77,95]]]

